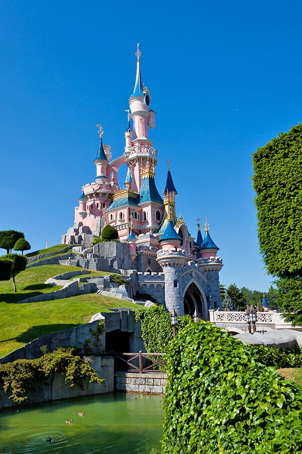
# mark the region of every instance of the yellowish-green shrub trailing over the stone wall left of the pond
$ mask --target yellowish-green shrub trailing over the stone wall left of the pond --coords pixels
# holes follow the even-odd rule
[[[83,389],[83,378],[90,383],[101,384],[94,369],[84,361],[74,347],[61,347],[52,353],[33,360],[17,360],[12,363],[0,364],[0,387],[10,392],[10,399],[21,404],[27,399],[27,393],[39,384],[45,383],[55,372],[65,375],[65,382],[70,386],[78,385]]]

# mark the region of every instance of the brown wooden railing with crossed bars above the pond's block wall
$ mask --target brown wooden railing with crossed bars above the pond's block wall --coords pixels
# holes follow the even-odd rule
[[[114,353],[114,357],[119,359],[127,367],[129,372],[163,372],[166,368],[165,359],[166,353]],[[125,357],[129,359],[125,359]],[[155,358],[162,358],[157,361]],[[138,363],[138,366],[133,364],[133,361]],[[154,370],[154,367],[160,367],[161,370]]]

